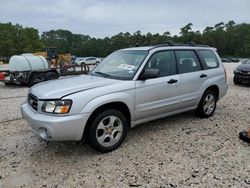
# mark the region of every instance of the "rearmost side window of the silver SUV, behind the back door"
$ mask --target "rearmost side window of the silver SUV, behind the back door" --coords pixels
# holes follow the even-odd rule
[[[198,52],[208,69],[219,67],[219,61],[213,51],[198,50]]]

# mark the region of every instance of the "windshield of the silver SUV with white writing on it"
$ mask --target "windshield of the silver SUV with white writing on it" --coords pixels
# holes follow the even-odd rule
[[[106,57],[91,72],[91,75],[131,80],[147,54],[146,50],[116,51]]]

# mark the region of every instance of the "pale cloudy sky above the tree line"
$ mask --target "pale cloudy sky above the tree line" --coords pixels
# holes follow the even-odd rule
[[[138,30],[178,35],[190,22],[203,31],[229,20],[250,23],[250,0],[0,0],[0,23],[97,38]]]

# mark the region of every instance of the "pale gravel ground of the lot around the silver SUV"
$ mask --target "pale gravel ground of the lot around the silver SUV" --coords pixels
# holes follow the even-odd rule
[[[27,88],[0,85],[1,187],[250,187],[250,87],[229,90],[216,113],[194,112],[130,130],[117,150],[100,154],[82,142],[46,142],[21,119]]]

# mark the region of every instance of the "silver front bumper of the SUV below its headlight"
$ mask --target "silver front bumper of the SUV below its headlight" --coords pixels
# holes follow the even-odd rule
[[[23,118],[33,131],[45,140],[81,140],[89,114],[51,116],[39,114],[27,103],[21,106]]]

